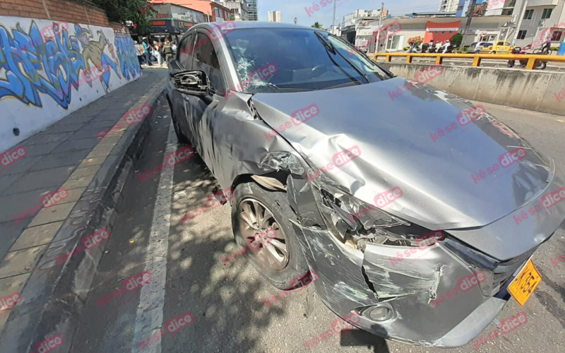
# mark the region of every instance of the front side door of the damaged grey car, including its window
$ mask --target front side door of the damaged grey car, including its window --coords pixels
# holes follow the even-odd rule
[[[218,107],[225,106],[225,91],[227,90],[225,71],[222,70],[218,59],[216,42],[204,30],[198,30],[194,44],[191,70],[201,70],[206,73],[210,80],[210,95],[205,97],[189,96],[189,128],[194,136],[193,144],[198,154],[201,155],[210,171],[219,179],[218,150],[220,140],[213,136],[213,125],[223,118],[223,113]],[[215,119],[215,121],[211,121]]]

